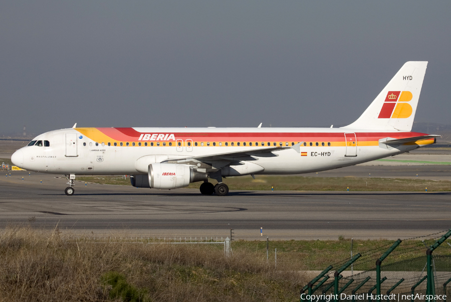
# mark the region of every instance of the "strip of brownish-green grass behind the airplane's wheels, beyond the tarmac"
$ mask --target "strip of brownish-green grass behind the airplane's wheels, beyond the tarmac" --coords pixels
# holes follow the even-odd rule
[[[451,181],[376,177],[311,177],[267,176],[227,177],[224,182],[231,190],[305,190],[305,191],[448,191]],[[131,185],[123,176],[79,177],[81,181]],[[213,180],[215,183],[215,181]],[[199,188],[201,182],[190,183],[188,188]]]

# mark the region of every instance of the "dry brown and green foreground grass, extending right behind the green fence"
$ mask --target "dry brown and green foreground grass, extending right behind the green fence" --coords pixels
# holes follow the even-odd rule
[[[384,264],[402,264],[391,270],[421,271],[424,244],[434,240],[420,240],[403,241]],[[270,241],[267,260],[266,241],[233,241],[230,256],[219,244],[150,242],[6,227],[0,230],[0,301],[293,301],[309,281],[303,271],[346,261],[351,244],[343,236]],[[392,243],[354,240],[354,254],[364,255],[354,270],[374,268]],[[437,270],[451,269],[445,243],[434,255],[448,259],[447,264],[435,261]],[[415,257],[422,257],[417,267],[409,261]]]

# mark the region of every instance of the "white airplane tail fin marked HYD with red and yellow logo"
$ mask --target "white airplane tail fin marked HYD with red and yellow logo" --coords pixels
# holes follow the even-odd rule
[[[368,108],[342,128],[410,131],[427,61],[409,61],[393,76]]]

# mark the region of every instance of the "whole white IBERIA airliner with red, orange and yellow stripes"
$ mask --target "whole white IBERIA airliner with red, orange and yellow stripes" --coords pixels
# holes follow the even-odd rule
[[[406,62],[362,115],[340,128],[73,128],[38,135],[11,157],[21,168],[68,178],[128,174],[136,187],[203,181],[227,195],[223,177],[299,174],[354,165],[434,143],[411,132],[426,61]],[[208,178],[217,180],[213,185]]]

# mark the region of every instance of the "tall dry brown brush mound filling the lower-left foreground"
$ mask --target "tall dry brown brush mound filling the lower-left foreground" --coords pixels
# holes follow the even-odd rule
[[[112,296],[112,272],[142,301],[291,301],[307,281],[296,267],[276,269],[245,250],[227,257],[210,244],[99,241],[29,227],[0,231],[0,261],[1,301],[133,300]]]

